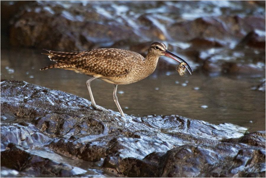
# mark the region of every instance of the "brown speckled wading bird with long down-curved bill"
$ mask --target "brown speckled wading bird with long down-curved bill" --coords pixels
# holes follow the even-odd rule
[[[154,42],[150,45],[145,58],[139,53],[116,48],[100,48],[80,52],[46,51],[48,53],[42,54],[48,55],[50,60],[56,63],[40,70],[61,68],[92,77],[86,81],[86,86],[90,94],[90,106],[96,110],[108,111],[96,105],[90,88],[91,82],[95,79],[100,79],[113,84],[113,101],[121,117],[124,118],[126,116],[116,96],[117,85],[131,84],[145,79],[155,71],[160,56],[167,56],[182,63],[187,71],[189,71],[189,74],[193,72],[184,59],[168,51],[166,45],[160,42]]]

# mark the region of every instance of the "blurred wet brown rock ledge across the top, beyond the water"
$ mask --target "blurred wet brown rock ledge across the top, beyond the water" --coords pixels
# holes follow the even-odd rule
[[[259,12],[260,5],[250,6],[244,2],[235,2],[231,4],[231,8],[223,9],[215,3],[196,3],[190,4],[189,9],[192,12],[188,12],[188,4],[190,3],[160,1],[123,4],[38,1],[21,4],[21,8],[16,11],[11,21],[10,41],[14,46],[64,50],[110,47],[121,41],[126,42],[124,45],[128,48],[135,42],[190,41],[194,38],[204,39],[203,44],[207,42],[208,45],[213,45],[206,38],[240,39],[252,30],[265,30],[265,17]],[[206,6],[205,9],[203,6]],[[244,15],[234,15],[235,11],[239,11],[234,7],[249,10],[242,12]],[[157,13],[151,13],[151,8]],[[167,9],[167,13],[164,9]],[[206,12],[206,9],[209,11]],[[202,17],[203,11],[210,14]],[[250,14],[249,11],[257,13]],[[190,13],[196,15],[183,17]],[[16,36],[18,33],[20,36]],[[220,44],[223,43],[214,45]],[[119,47],[124,45],[121,44]]]

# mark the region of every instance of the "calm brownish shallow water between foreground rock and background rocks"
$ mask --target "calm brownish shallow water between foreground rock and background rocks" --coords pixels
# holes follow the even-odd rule
[[[52,63],[41,52],[1,49],[1,79],[23,80],[90,100],[85,85],[90,77],[61,69],[40,71]],[[175,71],[155,71],[137,83],[119,85],[117,97],[126,114],[180,115],[265,130],[265,92],[251,90],[260,80],[261,76],[207,76],[196,71],[181,77]],[[95,80],[91,87],[96,104],[118,111],[112,84]]]

